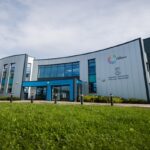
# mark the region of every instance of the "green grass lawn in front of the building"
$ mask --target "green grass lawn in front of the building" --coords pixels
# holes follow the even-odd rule
[[[0,103],[0,149],[150,149],[150,109]]]

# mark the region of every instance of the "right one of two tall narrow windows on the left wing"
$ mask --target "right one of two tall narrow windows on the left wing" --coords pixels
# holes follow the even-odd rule
[[[11,64],[7,93],[11,93],[12,92],[14,74],[15,74],[15,63]]]

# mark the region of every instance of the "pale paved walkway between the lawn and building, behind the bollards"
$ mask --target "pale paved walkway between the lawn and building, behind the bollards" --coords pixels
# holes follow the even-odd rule
[[[9,101],[0,101],[0,103],[10,103]],[[13,101],[13,103],[31,103],[30,100],[21,100],[21,101]],[[42,100],[35,100],[34,103],[36,104],[54,104],[54,101],[42,101]],[[57,101],[58,105],[81,105],[80,102],[66,102],[66,101]],[[97,106],[110,106],[110,103],[88,103],[84,102],[83,105],[97,105]],[[114,103],[114,106],[119,107],[145,107],[150,108],[150,104],[125,104],[125,103]]]

